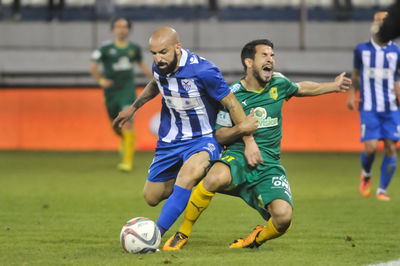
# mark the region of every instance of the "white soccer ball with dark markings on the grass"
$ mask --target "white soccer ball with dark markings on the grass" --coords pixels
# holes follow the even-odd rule
[[[122,227],[122,248],[128,253],[151,253],[157,251],[161,233],[157,225],[145,217],[136,217]]]

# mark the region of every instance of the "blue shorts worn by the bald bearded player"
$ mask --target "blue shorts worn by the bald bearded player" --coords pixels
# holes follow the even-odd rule
[[[157,142],[156,154],[150,165],[147,180],[165,182],[175,179],[183,163],[197,152],[207,151],[210,160],[219,159],[222,146],[215,138],[201,137],[178,143]]]

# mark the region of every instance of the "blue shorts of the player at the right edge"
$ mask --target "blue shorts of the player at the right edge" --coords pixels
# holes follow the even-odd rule
[[[367,140],[400,139],[400,111],[360,111],[361,142]]]

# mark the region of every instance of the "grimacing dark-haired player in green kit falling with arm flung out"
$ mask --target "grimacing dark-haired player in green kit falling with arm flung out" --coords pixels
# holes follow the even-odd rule
[[[285,169],[280,163],[282,105],[292,96],[316,96],[349,89],[351,80],[341,73],[333,82],[294,83],[274,72],[271,41],[255,40],[242,49],[246,76],[231,86],[245,113],[258,119],[253,133],[262,162],[246,162],[241,124],[234,125],[225,110],[217,118],[216,139],[226,145],[219,160],[193,191],[179,231],[165,243],[164,250],[177,250],[188,241],[192,226],[208,207],[215,192],[241,197],[266,220],[246,238],[235,240],[230,248],[255,248],[286,233],[292,224],[292,194]],[[245,122],[242,122],[245,123]]]

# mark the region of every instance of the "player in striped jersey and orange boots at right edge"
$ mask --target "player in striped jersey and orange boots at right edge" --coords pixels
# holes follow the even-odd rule
[[[359,101],[361,118],[361,141],[364,151],[361,153],[360,192],[364,197],[371,195],[371,168],[378,149],[379,140],[384,142],[384,158],[381,165],[381,177],[376,197],[388,201],[386,189],[396,169],[396,142],[400,138],[400,112],[397,96],[400,91],[398,70],[400,49],[393,42],[383,43],[377,37],[379,27],[388,13],[378,11],[371,24],[372,38],[359,44],[354,50],[353,87],[349,91],[347,106],[355,109]],[[360,100],[355,90],[360,90]]]

